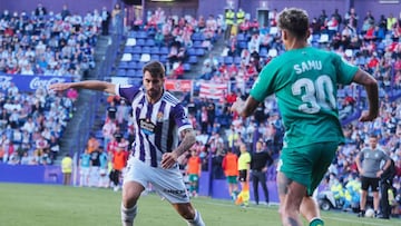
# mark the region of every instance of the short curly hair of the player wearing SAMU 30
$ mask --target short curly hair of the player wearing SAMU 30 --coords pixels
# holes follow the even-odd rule
[[[307,12],[299,8],[285,8],[278,14],[278,28],[297,38],[305,38],[309,30]]]

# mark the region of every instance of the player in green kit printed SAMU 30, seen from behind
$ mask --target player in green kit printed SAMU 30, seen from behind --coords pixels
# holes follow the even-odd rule
[[[285,127],[277,166],[282,223],[302,225],[301,213],[311,226],[324,225],[311,196],[344,139],[336,85],[364,86],[369,110],[360,121],[372,121],[379,111],[378,82],[335,52],[310,47],[309,17],[304,10],[284,9],[277,21],[286,52],[264,67],[247,99],[237,99],[232,110],[248,117],[260,102],[275,94]]]

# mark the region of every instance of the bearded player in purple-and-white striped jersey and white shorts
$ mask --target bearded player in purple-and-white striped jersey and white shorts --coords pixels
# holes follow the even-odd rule
[[[195,144],[193,127],[178,99],[164,89],[165,69],[151,61],[143,68],[143,86],[120,86],[106,81],[53,83],[50,90],[91,89],[118,95],[130,102],[135,125],[133,154],[124,175],[121,222],[134,225],[137,200],[150,183],[189,226],[204,226],[192,206],[177,158]],[[180,143],[178,145],[178,138]]]

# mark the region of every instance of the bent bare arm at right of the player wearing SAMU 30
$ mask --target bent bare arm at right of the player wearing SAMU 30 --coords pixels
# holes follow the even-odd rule
[[[369,111],[362,112],[360,121],[372,121],[379,115],[379,88],[378,81],[366,71],[359,69],[353,81],[364,86],[369,100]]]

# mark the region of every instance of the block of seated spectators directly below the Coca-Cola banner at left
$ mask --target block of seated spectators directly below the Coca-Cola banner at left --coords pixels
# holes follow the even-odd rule
[[[68,96],[19,92],[11,83],[0,92],[0,164],[51,165],[74,114],[76,91]]]

